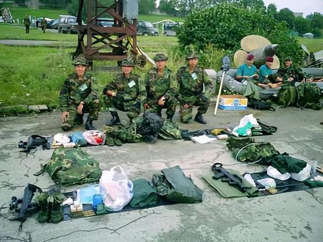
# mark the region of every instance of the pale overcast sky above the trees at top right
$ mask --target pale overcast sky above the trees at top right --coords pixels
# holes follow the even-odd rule
[[[314,12],[323,13],[323,0],[263,0],[265,5],[274,3],[279,11],[282,8],[289,8],[293,12],[303,13],[303,17]],[[159,3],[159,0],[157,0]]]

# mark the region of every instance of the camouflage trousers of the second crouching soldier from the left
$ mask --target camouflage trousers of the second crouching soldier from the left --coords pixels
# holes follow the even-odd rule
[[[104,104],[109,111],[124,111],[130,119],[136,118],[140,114],[140,108],[134,106],[137,102],[137,100],[124,101],[112,96],[104,97]]]

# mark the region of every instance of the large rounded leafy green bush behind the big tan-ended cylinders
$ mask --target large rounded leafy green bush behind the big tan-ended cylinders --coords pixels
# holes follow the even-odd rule
[[[294,38],[289,37],[286,23],[278,22],[265,12],[242,8],[237,3],[220,3],[213,8],[193,12],[185,19],[178,32],[180,46],[194,46],[203,50],[208,44],[218,49],[233,52],[247,35],[266,37],[271,43],[279,44],[278,57],[293,56],[300,62],[302,52]]]

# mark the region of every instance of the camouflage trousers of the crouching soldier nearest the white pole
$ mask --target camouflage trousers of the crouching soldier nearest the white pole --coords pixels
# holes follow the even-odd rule
[[[208,98],[207,100],[203,101],[203,99],[201,99],[202,95],[203,94],[200,94],[198,96],[192,96],[187,99],[183,98],[181,100],[181,108],[180,108],[181,122],[186,123],[192,119],[193,106],[199,107],[197,109],[198,114],[204,114],[208,111],[210,99]],[[188,104],[188,108],[185,108],[184,104]]]

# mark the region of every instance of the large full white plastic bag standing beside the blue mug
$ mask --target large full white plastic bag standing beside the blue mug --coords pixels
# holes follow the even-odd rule
[[[109,211],[120,211],[133,197],[133,183],[121,166],[103,171],[100,178],[100,194]]]

